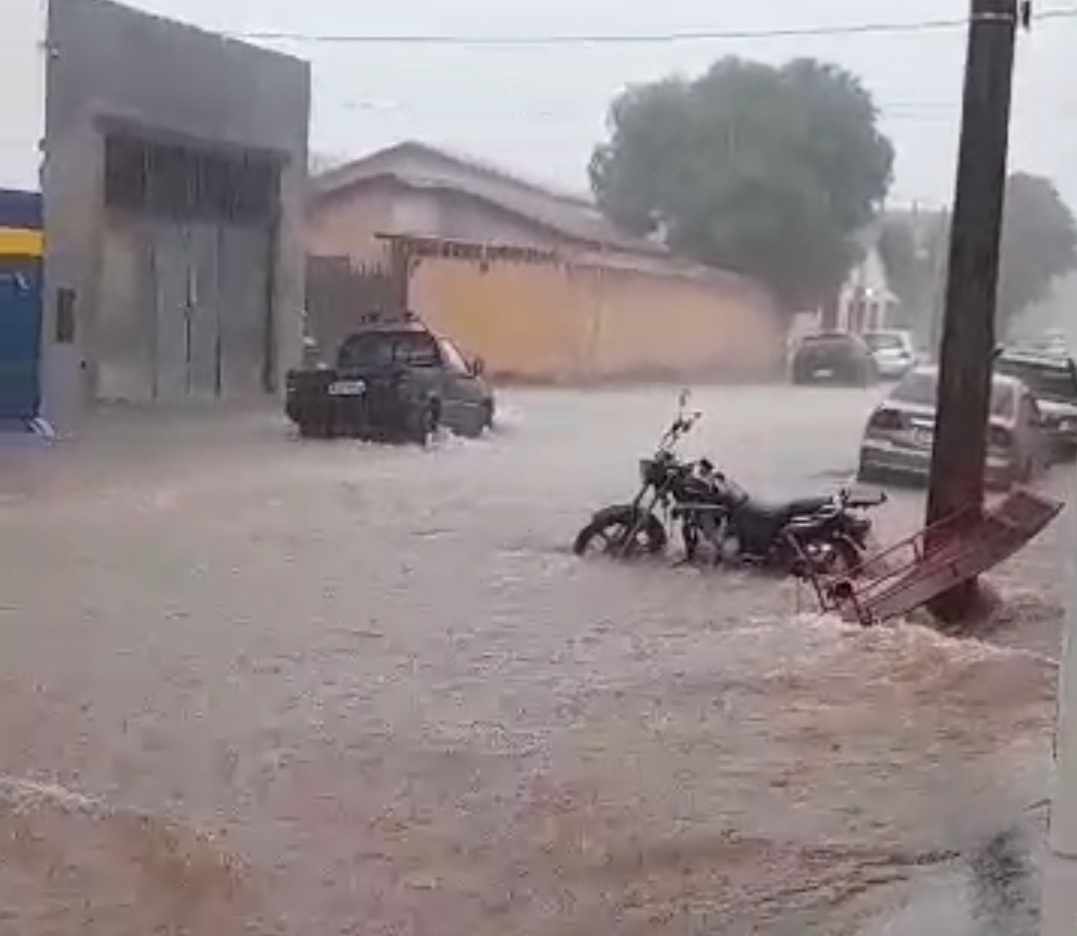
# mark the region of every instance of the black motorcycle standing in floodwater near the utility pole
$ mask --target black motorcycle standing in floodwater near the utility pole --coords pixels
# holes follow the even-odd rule
[[[616,558],[659,555],[680,527],[686,561],[710,551],[714,565],[737,562],[800,577],[851,573],[868,548],[871,520],[867,508],[885,502],[841,490],[784,504],[754,499],[708,459],[680,460],[676,444],[701,414],[685,415],[687,393],[656,452],[640,462],[641,487],[630,504],[596,513],[576,535],[577,556],[599,545]]]

